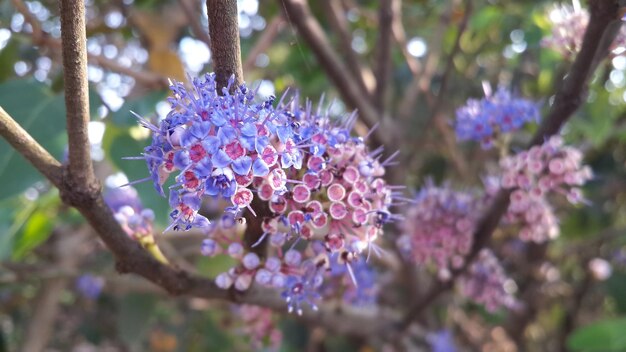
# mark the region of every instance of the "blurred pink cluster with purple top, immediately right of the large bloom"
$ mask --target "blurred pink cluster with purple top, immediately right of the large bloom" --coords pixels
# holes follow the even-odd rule
[[[405,214],[398,247],[418,264],[434,264],[445,279],[464,264],[481,207],[476,196],[429,181]]]

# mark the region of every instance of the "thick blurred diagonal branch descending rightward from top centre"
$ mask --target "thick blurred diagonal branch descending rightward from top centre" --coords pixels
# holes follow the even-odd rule
[[[307,2],[305,0],[281,0],[281,3],[285,11],[285,17],[297,28],[298,33],[311,47],[322,68],[339,90],[342,98],[348,105],[358,109],[359,116],[368,127],[381,122],[382,126],[376,131],[374,137],[379,143],[390,145],[393,134],[388,130],[390,126],[385,126],[388,122],[379,117],[378,112],[370,103],[368,97],[362,93],[359,85],[352,79],[349,73],[350,70],[333,50],[321,25],[313,17]]]

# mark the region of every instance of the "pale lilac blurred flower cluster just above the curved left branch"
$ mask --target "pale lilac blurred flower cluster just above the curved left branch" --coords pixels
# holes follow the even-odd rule
[[[137,190],[130,186],[108,189],[104,201],[128,236],[135,240],[152,236],[154,212],[142,207]]]

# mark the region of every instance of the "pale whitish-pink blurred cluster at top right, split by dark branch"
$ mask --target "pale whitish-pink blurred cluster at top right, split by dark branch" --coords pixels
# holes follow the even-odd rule
[[[580,51],[589,24],[587,9],[582,8],[578,0],[574,0],[573,3],[574,6],[558,5],[550,11],[552,33],[541,41],[542,46],[551,48],[568,59]],[[626,28],[622,27],[610,47],[609,56],[615,57],[625,52]]]

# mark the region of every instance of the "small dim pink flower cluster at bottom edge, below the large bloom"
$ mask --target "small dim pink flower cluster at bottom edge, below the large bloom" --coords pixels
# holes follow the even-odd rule
[[[250,339],[254,351],[278,351],[283,333],[277,326],[269,308],[244,304],[234,307],[242,322],[242,335]]]

